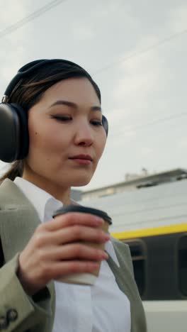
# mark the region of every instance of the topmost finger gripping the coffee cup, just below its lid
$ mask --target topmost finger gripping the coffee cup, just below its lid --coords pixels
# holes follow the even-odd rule
[[[44,226],[47,231],[57,231],[60,228],[77,225],[85,225],[91,227],[101,226],[103,219],[93,214],[84,214],[80,212],[69,212],[54,219],[47,221]]]

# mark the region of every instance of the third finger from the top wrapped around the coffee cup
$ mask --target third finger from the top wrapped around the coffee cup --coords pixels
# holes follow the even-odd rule
[[[82,243],[72,243],[68,245],[59,245],[40,250],[38,260],[60,261],[60,260],[106,260],[108,254],[99,248],[84,245]]]

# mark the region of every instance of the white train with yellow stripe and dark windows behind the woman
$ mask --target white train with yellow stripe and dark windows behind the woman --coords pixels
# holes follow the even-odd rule
[[[148,332],[186,332],[187,179],[80,204],[106,211],[128,243]]]

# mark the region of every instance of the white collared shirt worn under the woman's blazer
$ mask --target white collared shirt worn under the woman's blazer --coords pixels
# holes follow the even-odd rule
[[[50,194],[16,177],[14,183],[38,212],[40,221],[52,219],[62,206]],[[106,251],[119,266],[111,240]],[[55,282],[56,309],[52,332],[130,332],[130,301],[118,288],[108,263],[103,260],[93,286]]]

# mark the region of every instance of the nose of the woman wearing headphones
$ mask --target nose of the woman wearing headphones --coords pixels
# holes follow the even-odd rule
[[[77,126],[74,143],[82,146],[90,146],[94,143],[94,133],[86,121],[79,123],[79,126]]]

